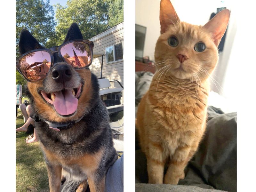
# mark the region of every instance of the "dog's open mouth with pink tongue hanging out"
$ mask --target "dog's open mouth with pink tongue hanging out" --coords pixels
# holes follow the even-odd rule
[[[41,94],[48,103],[53,105],[60,115],[67,116],[76,112],[81,88],[82,84],[74,89],[63,89],[52,93],[41,91]]]

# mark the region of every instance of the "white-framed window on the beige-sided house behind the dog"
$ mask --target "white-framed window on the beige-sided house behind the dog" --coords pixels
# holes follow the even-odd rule
[[[106,47],[107,63],[123,59],[123,43]]]

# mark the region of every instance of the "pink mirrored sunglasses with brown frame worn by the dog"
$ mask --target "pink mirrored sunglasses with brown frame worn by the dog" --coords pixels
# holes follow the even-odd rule
[[[92,64],[93,42],[72,40],[50,49],[26,52],[16,62],[16,68],[29,82],[44,79],[53,66],[53,53],[58,52],[61,60],[74,69],[88,68]]]

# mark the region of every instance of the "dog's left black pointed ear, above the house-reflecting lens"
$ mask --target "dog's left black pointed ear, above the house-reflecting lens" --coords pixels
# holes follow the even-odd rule
[[[20,42],[19,42],[19,51],[20,54],[34,50],[34,49],[43,49],[35,37],[29,33],[27,29],[22,29],[20,32]]]

